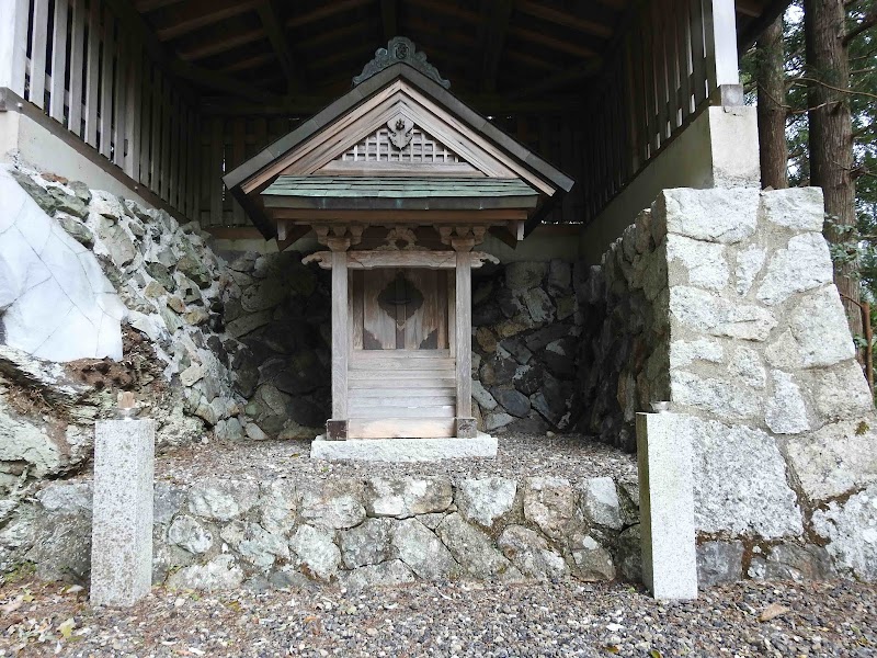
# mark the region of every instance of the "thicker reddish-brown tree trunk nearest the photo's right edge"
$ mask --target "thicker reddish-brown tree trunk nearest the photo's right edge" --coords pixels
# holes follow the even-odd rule
[[[822,188],[825,213],[839,226],[855,226],[853,129],[850,116],[850,61],[844,45],[844,7],[841,0],[805,0],[804,29],[807,39],[807,102],[810,107],[810,183]],[[848,236],[825,225],[830,242]],[[857,263],[835,262],[834,283],[844,296],[858,302]],[[863,333],[862,314],[844,300],[850,329]]]

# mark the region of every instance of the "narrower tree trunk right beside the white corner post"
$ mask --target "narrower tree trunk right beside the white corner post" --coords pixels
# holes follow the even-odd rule
[[[761,186],[775,190],[788,188],[784,61],[783,16],[779,16],[762,33],[756,52]]]

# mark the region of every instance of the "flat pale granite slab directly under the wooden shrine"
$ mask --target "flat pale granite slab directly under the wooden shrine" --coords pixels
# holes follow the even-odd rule
[[[351,439],[310,444],[311,460],[364,462],[437,462],[464,457],[497,456],[497,439],[479,432],[471,439]]]

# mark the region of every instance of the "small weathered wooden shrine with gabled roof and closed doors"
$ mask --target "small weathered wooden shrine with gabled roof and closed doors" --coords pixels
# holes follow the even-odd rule
[[[281,249],[332,271],[327,439],[470,438],[471,270],[572,180],[479,116],[407,38],[353,89],[225,177]]]

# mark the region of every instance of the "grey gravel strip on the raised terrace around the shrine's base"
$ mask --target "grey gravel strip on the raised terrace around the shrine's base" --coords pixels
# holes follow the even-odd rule
[[[328,479],[373,476],[445,475],[454,483],[466,477],[522,478],[553,475],[580,481],[612,476],[636,479],[636,456],[579,434],[501,436],[496,460],[465,458],[442,462],[388,464],[385,462],[324,462],[310,460],[309,441],[212,443],[169,451],[156,457],[156,477],[190,484],[205,477]],[[90,474],[81,477],[90,478]]]

